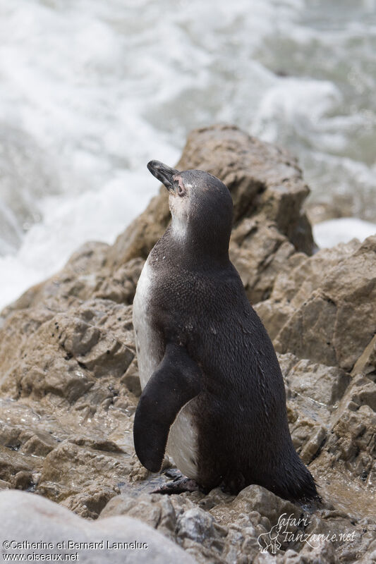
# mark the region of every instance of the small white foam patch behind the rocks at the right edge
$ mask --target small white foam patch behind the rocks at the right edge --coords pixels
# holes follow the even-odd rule
[[[334,247],[338,243],[348,243],[353,238],[361,242],[370,235],[376,235],[376,223],[363,221],[356,217],[329,219],[313,226],[313,238],[321,248]]]

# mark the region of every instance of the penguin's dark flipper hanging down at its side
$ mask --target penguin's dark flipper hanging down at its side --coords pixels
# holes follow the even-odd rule
[[[135,452],[150,472],[161,470],[170,427],[200,389],[201,369],[197,362],[182,346],[166,345],[162,362],[142,391],[133,424]]]

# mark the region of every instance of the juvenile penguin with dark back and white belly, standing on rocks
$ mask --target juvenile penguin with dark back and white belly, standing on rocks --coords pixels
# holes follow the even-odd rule
[[[151,472],[165,452],[186,477],[159,491],[237,494],[259,484],[317,498],[293,448],[284,381],[270,338],[229,260],[233,204],[218,178],[150,161],[172,221],[138,281],[133,324],[142,395],[135,452]]]

